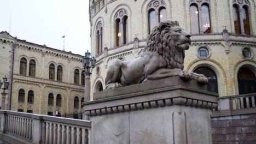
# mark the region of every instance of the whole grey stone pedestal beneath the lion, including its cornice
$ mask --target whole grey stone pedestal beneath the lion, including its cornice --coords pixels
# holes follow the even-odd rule
[[[218,94],[178,76],[94,93],[83,103],[92,143],[212,143]]]

